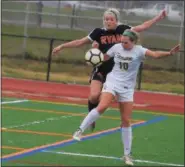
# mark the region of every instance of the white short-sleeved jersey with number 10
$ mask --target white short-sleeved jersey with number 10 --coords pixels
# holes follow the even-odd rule
[[[123,48],[122,44],[115,44],[107,51],[107,55],[114,57],[115,65],[107,75],[106,82],[111,82],[117,89],[134,89],[139,66],[145,58],[146,48],[135,45],[131,50]],[[121,91],[120,90],[120,91]]]

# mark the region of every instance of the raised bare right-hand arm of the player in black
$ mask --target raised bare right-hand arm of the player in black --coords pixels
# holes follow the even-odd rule
[[[163,10],[159,15],[157,15],[156,17],[154,17],[151,20],[145,21],[143,24],[141,25],[137,25],[131,28],[131,30],[136,31],[136,32],[142,32],[144,30],[147,30],[148,28],[150,28],[153,24],[155,24],[156,22],[162,20],[163,18],[166,17],[166,11]]]

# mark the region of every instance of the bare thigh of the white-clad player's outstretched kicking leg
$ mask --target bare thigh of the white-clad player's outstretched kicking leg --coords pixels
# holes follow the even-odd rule
[[[98,112],[103,113],[109,107],[113,98],[114,94],[110,92],[102,92],[100,102],[97,106]]]

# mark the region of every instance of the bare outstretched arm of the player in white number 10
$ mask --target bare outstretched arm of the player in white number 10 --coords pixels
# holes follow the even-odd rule
[[[165,51],[152,51],[147,49],[145,52],[146,56],[151,56],[153,58],[160,58],[160,57],[165,57],[165,56],[170,56],[170,55],[174,55],[175,53],[179,52],[180,50],[180,45],[176,45],[175,47],[173,47],[169,52],[165,52]]]

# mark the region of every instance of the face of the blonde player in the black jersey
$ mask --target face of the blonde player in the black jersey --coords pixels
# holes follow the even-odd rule
[[[104,25],[105,25],[105,28],[108,30],[116,29],[117,20],[115,16],[113,16],[112,14],[106,14],[104,16]]]

